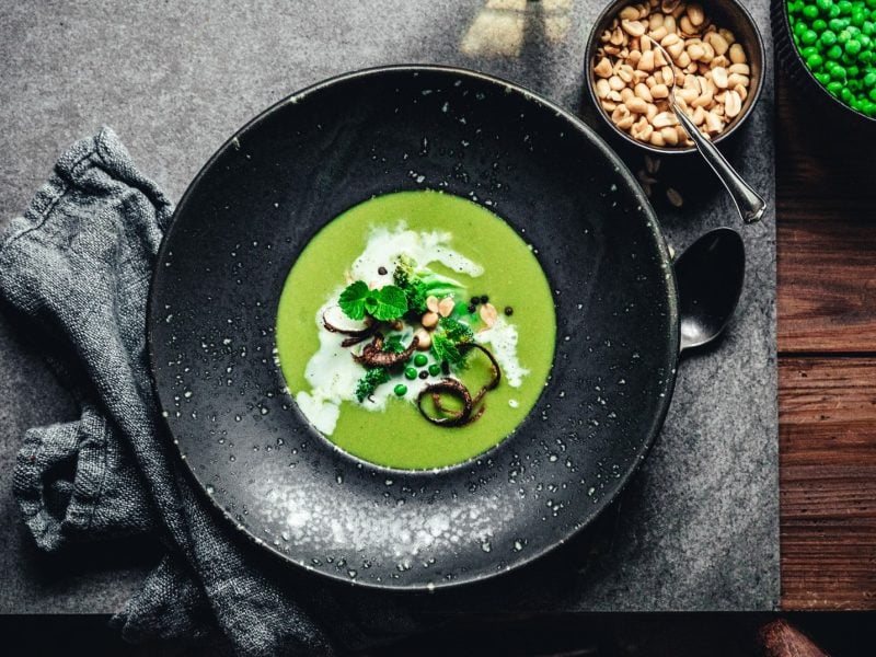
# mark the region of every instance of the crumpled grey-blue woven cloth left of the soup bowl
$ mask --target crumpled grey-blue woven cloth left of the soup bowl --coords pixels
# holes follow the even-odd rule
[[[302,592],[269,574],[267,560],[193,489],[158,422],[146,300],[172,211],[105,128],[60,158],[9,226],[0,296],[39,337],[82,412],[78,422],[27,431],[14,494],[49,552],[161,537],[166,555],[114,619],[126,638],[197,638],[218,629],[242,655],[331,654],[312,614],[333,625],[346,614],[322,589]]]

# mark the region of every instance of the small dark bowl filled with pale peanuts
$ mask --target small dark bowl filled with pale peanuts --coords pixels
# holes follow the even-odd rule
[[[735,0],[618,0],[590,33],[587,89],[598,114],[627,141],[659,154],[693,152],[670,106],[673,82],[682,110],[721,141],[760,96],[763,51],[751,14]]]

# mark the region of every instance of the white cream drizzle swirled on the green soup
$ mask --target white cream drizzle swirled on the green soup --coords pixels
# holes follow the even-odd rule
[[[394,229],[373,228],[368,237],[365,251],[349,268],[349,280],[365,280],[373,287],[382,287],[392,283],[391,265],[403,254],[412,257],[419,267],[431,263],[441,263],[452,272],[466,274],[473,278],[481,276],[484,269],[458,251],[450,247],[451,234],[441,231],[419,232],[410,230],[404,221]],[[387,267],[388,274],[378,274],[380,267]],[[314,323],[319,331],[320,348],[310,358],[304,369],[304,378],[311,385],[310,392],[296,394],[298,407],[311,424],[322,434],[331,436],[341,415],[341,403],[358,403],[356,385],[364,370],[353,360],[350,349],[341,346],[343,335],[326,331],[322,323],[323,314],[335,309],[337,299],[345,286],[338,286],[326,299],[316,315]],[[401,333],[402,342],[408,344],[413,331],[407,327]],[[519,388],[522,378],[529,370],[520,365],[517,358],[517,327],[499,316],[487,330],[475,334],[475,339],[489,344],[496,361],[502,368],[504,380],[511,388]],[[354,347],[356,348],[356,347]],[[404,380],[407,393],[403,399],[415,403],[419,392],[429,384],[429,380]],[[395,396],[393,384],[379,385],[374,394],[361,405],[369,411],[383,411],[387,400]]]

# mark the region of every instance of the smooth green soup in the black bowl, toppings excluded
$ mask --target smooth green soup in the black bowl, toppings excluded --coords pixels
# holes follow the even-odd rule
[[[507,321],[517,330],[517,358],[528,373],[517,388],[504,377],[484,397],[483,415],[462,427],[434,425],[415,403],[391,395],[382,411],[369,410],[368,402],[341,402],[334,429],[322,434],[342,450],[378,465],[443,468],[475,458],[512,434],[538,401],[553,362],[556,318],[548,279],[532,250],[492,211],[450,194],[423,191],[378,196],[335,218],[303,249],[286,279],[277,311],[278,360],[291,395],[309,393],[306,372],[320,349],[320,309],[345,284],[345,273],[374,229],[399,226],[449,233],[452,249],[481,265],[480,276],[452,272],[440,263],[429,268],[451,276],[473,296],[488,295],[499,313],[511,310]],[[436,365],[431,354],[426,356],[418,371]],[[416,367],[413,361],[411,366]],[[486,358],[472,358],[459,378],[477,390],[489,380],[489,367]],[[392,390],[410,383],[404,369],[382,385]],[[431,377],[429,381],[438,380]]]

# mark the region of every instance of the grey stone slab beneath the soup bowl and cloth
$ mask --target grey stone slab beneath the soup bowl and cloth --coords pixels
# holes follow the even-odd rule
[[[769,36],[766,0],[746,2]],[[443,62],[522,83],[581,106],[584,45],[599,0],[274,0],[260,3],[4,2],[0,5],[0,217],[21,212],[55,158],[111,125],[172,198],[254,114],[292,91],[350,69]],[[519,9],[495,9],[495,7]],[[492,22],[491,22],[492,20]],[[480,22],[479,22],[480,21]],[[482,38],[489,26],[489,38]],[[497,53],[497,50],[504,51]],[[492,51],[492,53],[491,53]],[[771,53],[768,61],[772,62]],[[596,125],[589,108],[586,118]],[[779,598],[775,232],[772,81],[729,152],[770,200],[744,229],[749,264],[739,312],[715,349],[687,358],[666,427],[596,552],[562,591],[497,609],[761,610]],[[635,171],[638,153],[623,152]],[[665,159],[656,199],[680,251],[704,230],[738,224],[693,158]],[[699,173],[698,173],[699,172]],[[662,188],[657,195],[662,194]],[[0,611],[112,612],[136,590],[153,551],[100,549],[49,563],[35,554],[11,498],[24,429],[74,408],[7,319],[0,321]],[[587,543],[590,545],[590,543]],[[116,550],[116,553],[118,550]],[[73,556],[84,557],[77,565]],[[81,561],[81,560],[80,560]],[[514,583],[512,583],[514,584]],[[550,584],[550,583],[549,583]],[[509,585],[503,585],[509,586]],[[464,609],[460,599],[456,609]],[[470,602],[470,604],[473,604]],[[495,604],[495,602],[494,602]]]

